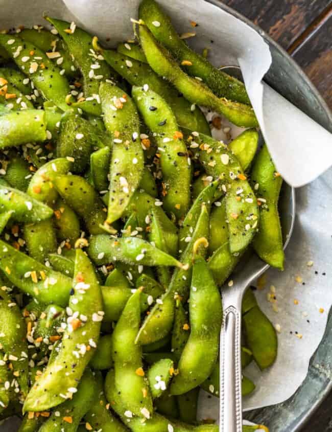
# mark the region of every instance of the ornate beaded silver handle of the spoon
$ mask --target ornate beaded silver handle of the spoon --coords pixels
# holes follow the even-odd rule
[[[223,293],[219,432],[242,432],[241,291]]]

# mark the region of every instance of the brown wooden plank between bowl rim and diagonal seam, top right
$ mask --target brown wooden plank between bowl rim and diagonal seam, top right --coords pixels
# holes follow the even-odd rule
[[[222,0],[266,31],[284,49],[310,26],[330,0]]]

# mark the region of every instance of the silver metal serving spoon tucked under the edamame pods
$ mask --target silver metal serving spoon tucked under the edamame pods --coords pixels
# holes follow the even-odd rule
[[[242,79],[239,66],[222,67],[229,75]],[[295,220],[295,190],[284,184],[279,212],[285,249]],[[239,268],[240,267],[240,268]],[[219,432],[242,432],[241,306],[247,287],[270,266],[253,254],[241,262],[233,274],[233,285],[224,285],[223,323],[220,333],[220,421]]]

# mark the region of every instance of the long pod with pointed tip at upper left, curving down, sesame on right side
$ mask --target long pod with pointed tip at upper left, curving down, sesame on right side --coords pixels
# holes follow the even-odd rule
[[[109,66],[103,57],[93,50],[92,36],[89,33],[76,27],[76,25],[70,28],[69,22],[49,16],[45,18],[53,24],[65,41],[76,66],[83,76],[84,97],[72,105],[80,107],[95,116],[100,116],[102,110],[98,96],[99,86],[101,81],[111,78]]]

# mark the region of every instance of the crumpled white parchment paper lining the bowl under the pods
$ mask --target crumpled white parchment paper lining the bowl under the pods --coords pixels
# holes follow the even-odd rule
[[[331,165],[331,134],[261,83],[271,64],[271,55],[258,33],[203,0],[159,2],[171,15],[179,32],[193,31],[189,21],[198,22],[197,37],[190,43],[199,51],[210,48],[210,60],[216,66],[241,65],[270,152],[289,183],[305,184]],[[64,3],[61,0],[0,0],[0,27],[41,24],[42,13],[47,12],[58,18],[75,19],[102,40],[111,38],[110,43],[114,45],[132,38],[130,18],[137,17],[138,3],[138,0],[64,0]],[[219,138],[226,139],[226,135]],[[282,273],[269,270],[265,290],[257,292],[260,306],[273,324],[280,325],[281,332],[275,365],[263,373],[254,365],[245,371],[257,387],[244,400],[247,410],[288,399],[305,378],[310,358],[324,333],[332,303],[332,291],[328,286],[332,273],[328,258],[332,219],[328,214],[332,209],[326,199],[331,196],[331,185],[332,174],[328,171],[299,191],[297,220],[286,253],[286,268]],[[314,264],[308,267],[306,263],[310,260]],[[300,281],[296,280],[297,275],[305,285],[297,282]],[[266,300],[270,285],[276,287],[278,313]],[[320,308],[324,309],[323,313]],[[201,396],[201,417],[217,418],[217,399]]]

